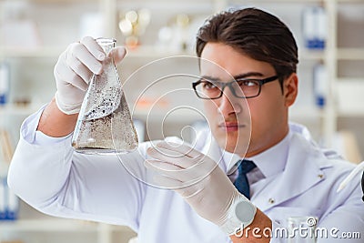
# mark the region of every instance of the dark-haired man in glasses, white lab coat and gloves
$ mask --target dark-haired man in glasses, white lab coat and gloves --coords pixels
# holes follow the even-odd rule
[[[125,51],[112,56],[118,63]],[[363,235],[359,179],[336,193],[353,166],[320,150],[303,127],[288,126],[298,94],[288,27],[254,8],[224,12],[199,30],[197,56],[193,86],[210,132],[193,148],[167,139],[97,157],[75,153],[70,139],[87,80],[106,56],[90,37],[69,46],[55,67],[56,99],[21,129],[9,186],[47,214],[127,225],[139,242],[286,242],[274,233],[295,216],[338,229],[320,243]]]

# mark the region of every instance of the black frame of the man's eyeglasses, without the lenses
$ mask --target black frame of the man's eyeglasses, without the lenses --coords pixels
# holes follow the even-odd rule
[[[224,94],[224,89],[225,89],[226,86],[228,86],[230,88],[230,90],[231,90],[231,93],[233,93],[233,95],[236,96],[236,97],[238,97],[238,98],[254,98],[254,97],[257,97],[257,96],[260,95],[261,86],[263,86],[264,84],[267,84],[269,82],[272,82],[272,81],[277,80],[278,77],[279,76],[268,76],[267,78],[264,78],[264,79],[241,78],[241,79],[234,80],[234,81],[231,81],[231,82],[228,82],[228,83],[213,81],[213,82],[211,82],[212,84],[218,84],[218,85],[221,86],[220,95],[217,96],[217,97],[213,97],[213,98],[201,97],[201,96],[198,95],[196,86],[198,86],[199,84],[201,84],[203,81],[198,80],[197,82],[192,83],[192,87],[195,90],[195,93],[196,93],[197,97],[202,98],[202,99],[217,99],[217,98],[220,98],[222,96],[222,94]],[[232,86],[234,83],[236,83],[238,81],[255,81],[255,82],[258,82],[259,83],[259,91],[258,91],[258,94],[255,95],[255,96],[238,96],[237,93],[235,92],[234,87]]]

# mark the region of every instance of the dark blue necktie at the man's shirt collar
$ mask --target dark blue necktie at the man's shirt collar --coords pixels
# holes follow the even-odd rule
[[[250,199],[250,189],[247,173],[255,167],[257,166],[253,161],[243,159],[243,161],[241,161],[240,165],[238,166],[238,177],[234,182],[234,186],[237,187],[238,191],[248,199]]]

